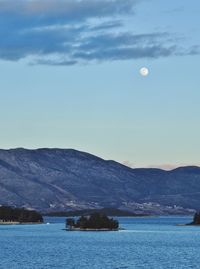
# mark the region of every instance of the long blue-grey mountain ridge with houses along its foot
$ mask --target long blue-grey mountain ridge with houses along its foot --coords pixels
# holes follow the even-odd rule
[[[200,207],[200,168],[131,169],[73,149],[0,150],[0,204],[42,212],[193,213]]]

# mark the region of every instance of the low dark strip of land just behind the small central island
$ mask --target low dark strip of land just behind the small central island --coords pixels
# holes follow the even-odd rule
[[[63,212],[51,212],[45,214],[46,216],[53,217],[75,217],[75,216],[89,216],[91,214],[98,213],[104,214],[110,217],[139,217],[144,216],[144,214],[135,214],[130,211],[120,210],[117,208],[101,208],[101,209],[83,209],[83,210],[71,210]]]

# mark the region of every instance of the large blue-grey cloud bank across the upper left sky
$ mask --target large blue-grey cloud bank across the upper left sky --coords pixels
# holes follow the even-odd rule
[[[198,53],[180,50],[168,33],[127,31],[123,18],[138,2],[0,0],[0,59],[75,65]]]

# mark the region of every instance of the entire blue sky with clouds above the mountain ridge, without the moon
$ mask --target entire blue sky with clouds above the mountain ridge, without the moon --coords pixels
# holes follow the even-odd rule
[[[0,0],[0,148],[200,165],[199,13],[198,0]]]

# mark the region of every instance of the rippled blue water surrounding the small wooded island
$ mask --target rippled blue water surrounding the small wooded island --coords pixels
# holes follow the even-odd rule
[[[191,217],[119,218],[119,232],[66,232],[50,225],[0,226],[0,269],[200,269],[200,227]]]

